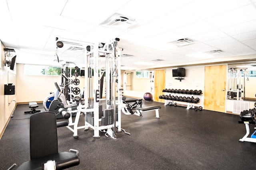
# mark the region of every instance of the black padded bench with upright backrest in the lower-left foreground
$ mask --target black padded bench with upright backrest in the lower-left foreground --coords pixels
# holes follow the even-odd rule
[[[30,160],[17,170],[43,170],[49,160],[55,162],[51,169],[62,170],[80,163],[78,150],[58,152],[56,115],[41,112],[30,116]]]

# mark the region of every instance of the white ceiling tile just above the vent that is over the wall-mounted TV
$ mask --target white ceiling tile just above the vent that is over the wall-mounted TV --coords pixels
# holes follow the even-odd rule
[[[180,27],[178,29],[174,29],[172,31],[184,35],[186,37],[191,37],[193,35],[198,35],[201,33],[213,31],[216,28],[212,25],[206,23],[205,21],[198,21],[189,25],[186,25],[184,27]]]

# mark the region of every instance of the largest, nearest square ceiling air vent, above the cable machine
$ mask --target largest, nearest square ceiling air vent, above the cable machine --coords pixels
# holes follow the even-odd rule
[[[132,27],[135,27],[136,25],[138,25],[138,23],[134,18],[131,18],[122,14],[114,13],[108,19],[100,23],[100,25],[113,28],[113,29],[127,31],[128,29],[131,29]]]

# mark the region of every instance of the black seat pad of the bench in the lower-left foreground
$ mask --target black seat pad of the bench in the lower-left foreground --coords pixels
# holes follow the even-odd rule
[[[17,170],[42,170],[44,169],[43,164],[48,160],[56,161],[56,170],[70,168],[80,163],[80,160],[76,154],[72,152],[60,152],[24,162],[17,168]]]

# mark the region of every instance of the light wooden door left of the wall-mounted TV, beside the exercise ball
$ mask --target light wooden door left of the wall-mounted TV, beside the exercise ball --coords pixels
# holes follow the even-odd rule
[[[154,101],[155,102],[162,102],[164,103],[165,100],[164,99],[159,99],[159,96],[161,96],[163,94],[163,89],[165,89],[165,73],[166,70],[154,70]]]

